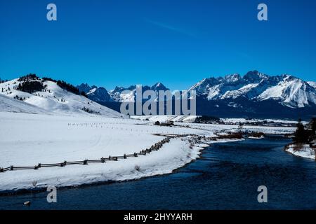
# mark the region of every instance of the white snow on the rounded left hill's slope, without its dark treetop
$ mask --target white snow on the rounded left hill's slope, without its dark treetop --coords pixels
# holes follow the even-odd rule
[[[50,111],[51,113],[90,114],[114,118],[122,116],[121,113],[108,109],[96,102],[92,102],[86,97],[62,89],[53,81],[44,81],[43,84],[46,85],[45,90],[33,92],[32,94],[16,90],[16,87],[18,87],[20,83],[22,83],[22,81],[18,79],[0,83],[0,94],[11,97],[11,99],[20,99],[21,103],[25,105],[29,104],[29,109],[31,106],[36,106],[39,109]],[[25,109],[25,111],[28,112],[27,109]],[[29,113],[32,113],[32,111],[34,110],[30,110]]]

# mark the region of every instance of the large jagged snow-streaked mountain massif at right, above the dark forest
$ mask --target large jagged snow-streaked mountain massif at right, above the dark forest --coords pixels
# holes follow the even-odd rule
[[[218,78],[204,78],[190,87],[197,95],[208,100],[247,99],[263,101],[273,99],[284,106],[302,108],[316,104],[316,83],[305,82],[294,76],[268,76],[259,71],[249,71],[243,77],[232,74]]]

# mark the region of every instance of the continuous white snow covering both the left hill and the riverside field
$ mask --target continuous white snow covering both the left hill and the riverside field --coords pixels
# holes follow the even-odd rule
[[[44,91],[32,94],[16,90],[18,84],[18,79],[0,83],[0,167],[99,160],[110,155],[138,153],[168,134],[187,136],[171,139],[159,151],[137,158],[0,172],[0,192],[168,174],[198,158],[199,151],[214,142],[204,138],[196,141],[197,137],[216,137],[216,134],[239,130],[237,125],[186,123],[195,118],[192,116],[129,119],[86,97],[67,92],[51,81],[44,82]],[[19,99],[15,99],[17,96]],[[173,120],[175,126],[157,126],[156,120]],[[292,127],[243,128],[266,134],[294,132]]]

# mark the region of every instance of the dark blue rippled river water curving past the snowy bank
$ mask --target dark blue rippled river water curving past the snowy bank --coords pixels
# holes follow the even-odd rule
[[[284,152],[289,141],[270,136],[213,144],[173,174],[60,189],[51,204],[46,192],[0,196],[0,209],[316,209],[316,162]],[[257,201],[262,185],[268,203]]]

